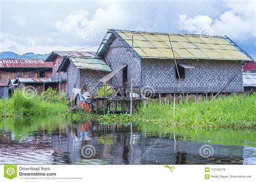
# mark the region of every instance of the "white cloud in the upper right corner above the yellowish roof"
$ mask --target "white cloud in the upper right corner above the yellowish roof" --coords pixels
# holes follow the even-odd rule
[[[190,33],[200,33],[202,29],[210,28],[215,35],[219,36],[227,35],[233,39],[255,38],[255,0],[228,1],[226,5],[230,10],[214,20],[206,15],[192,18],[180,15],[178,21],[180,29]]]

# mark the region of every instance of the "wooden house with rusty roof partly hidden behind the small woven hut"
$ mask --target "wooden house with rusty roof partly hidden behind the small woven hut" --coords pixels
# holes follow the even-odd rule
[[[85,51],[52,51],[46,62],[52,62],[52,75],[51,80],[57,83],[57,91],[66,93],[66,73],[57,72],[60,64],[65,57],[91,57],[95,56],[95,52],[85,52]]]

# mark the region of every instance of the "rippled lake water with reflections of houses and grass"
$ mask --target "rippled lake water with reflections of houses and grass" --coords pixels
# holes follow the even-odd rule
[[[255,130],[26,117],[0,131],[0,164],[256,164]]]

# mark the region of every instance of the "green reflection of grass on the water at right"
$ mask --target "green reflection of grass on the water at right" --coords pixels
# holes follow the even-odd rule
[[[246,145],[256,147],[256,132],[250,129],[188,129],[181,127],[167,127],[160,124],[136,123],[146,136],[170,137],[182,141],[201,142],[220,145]]]

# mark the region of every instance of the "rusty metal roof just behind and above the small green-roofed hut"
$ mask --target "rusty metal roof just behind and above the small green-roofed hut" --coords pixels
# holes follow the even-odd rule
[[[87,52],[87,51],[52,51],[48,58],[45,61],[53,61],[57,55],[60,57],[95,57],[96,52]]]

